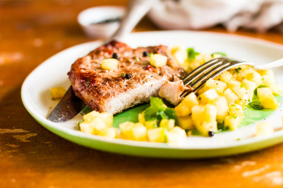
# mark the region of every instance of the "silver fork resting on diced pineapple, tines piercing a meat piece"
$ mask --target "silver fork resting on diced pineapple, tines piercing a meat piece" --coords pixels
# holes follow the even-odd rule
[[[203,87],[205,82],[210,78],[215,78],[216,76],[220,75],[224,71],[231,69],[233,67],[241,66],[241,65],[249,65],[253,66],[255,69],[258,70],[266,70],[274,67],[279,67],[283,65],[283,58],[262,64],[262,65],[254,65],[254,63],[242,61],[234,58],[227,58],[227,57],[220,57],[212,59],[201,66],[198,66],[192,72],[185,75],[182,80],[185,86],[191,87],[193,90],[187,92],[183,92],[180,97],[183,98],[186,95],[194,92],[196,95],[200,88]]]

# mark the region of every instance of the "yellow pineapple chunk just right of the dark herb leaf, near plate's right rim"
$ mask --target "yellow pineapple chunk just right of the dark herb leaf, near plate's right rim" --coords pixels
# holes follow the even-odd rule
[[[276,109],[280,103],[277,102],[275,97],[272,95],[272,91],[269,88],[257,88],[257,96],[264,108]]]

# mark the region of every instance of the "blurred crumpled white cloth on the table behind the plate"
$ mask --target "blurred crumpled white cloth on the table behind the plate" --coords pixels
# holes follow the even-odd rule
[[[159,0],[149,18],[163,29],[203,29],[223,24],[228,31],[239,27],[283,33],[283,0]]]

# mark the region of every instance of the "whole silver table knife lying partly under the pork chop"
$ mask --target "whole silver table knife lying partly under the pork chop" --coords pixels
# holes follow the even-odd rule
[[[130,33],[139,20],[149,11],[156,0],[131,0],[126,15],[121,21],[118,30],[105,43],[110,40],[120,41],[126,33]],[[75,117],[85,107],[85,103],[75,96],[72,86],[47,117],[56,123],[66,122]]]

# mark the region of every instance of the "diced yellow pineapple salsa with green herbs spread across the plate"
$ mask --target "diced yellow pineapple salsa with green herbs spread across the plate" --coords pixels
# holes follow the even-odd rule
[[[198,53],[193,48],[172,48],[172,56],[186,71],[197,68],[224,53]],[[150,64],[166,65],[167,57],[150,54]],[[167,107],[161,99],[150,98],[150,106],[138,115],[138,122],[122,122],[120,133],[113,127],[113,115],[92,111],[79,122],[86,133],[128,140],[168,142],[179,144],[192,131],[203,136],[213,136],[223,130],[236,130],[249,108],[277,109],[280,105],[274,95],[281,94],[281,85],[275,82],[272,70],[255,70],[239,66],[209,79],[198,93],[190,93],[175,108]],[[253,101],[257,97],[259,100]],[[267,122],[259,122],[256,135],[272,133]]]

